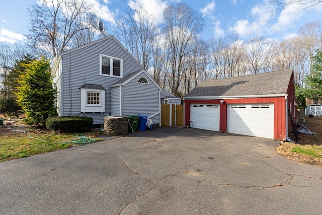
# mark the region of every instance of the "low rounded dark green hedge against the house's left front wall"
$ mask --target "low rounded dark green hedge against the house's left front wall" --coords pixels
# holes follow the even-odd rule
[[[48,129],[66,133],[87,131],[92,126],[93,118],[87,116],[60,116],[46,120]]]

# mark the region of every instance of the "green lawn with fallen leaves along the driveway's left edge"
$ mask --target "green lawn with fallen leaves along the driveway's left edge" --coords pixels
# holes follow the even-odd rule
[[[71,148],[73,142],[67,141],[73,140],[75,135],[77,134],[48,132],[3,135],[0,142],[0,162]],[[87,132],[83,135],[94,138],[95,141],[103,140],[95,138],[100,135],[98,132]]]

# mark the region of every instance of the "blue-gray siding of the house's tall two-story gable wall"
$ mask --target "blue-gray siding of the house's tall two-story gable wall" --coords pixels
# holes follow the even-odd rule
[[[142,67],[113,39],[61,54],[61,115],[85,115],[93,117],[94,124],[103,124],[104,117],[111,113],[111,89],[109,86],[121,78],[100,76],[100,54],[123,59],[123,77]],[[83,84],[102,85],[105,91],[104,113],[81,113],[81,87]],[[62,90],[62,88],[64,88]]]

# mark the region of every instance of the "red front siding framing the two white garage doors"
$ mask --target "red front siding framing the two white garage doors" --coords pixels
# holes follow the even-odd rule
[[[224,100],[223,104],[220,100]],[[290,101],[288,101],[289,103]],[[293,101],[294,102],[294,101]],[[274,104],[274,139],[285,139],[286,136],[286,111],[285,97],[264,97],[264,98],[246,98],[246,99],[211,99],[211,100],[185,100],[185,122],[189,126],[190,104],[220,104],[220,125],[219,131],[226,132],[227,129],[227,104]]]

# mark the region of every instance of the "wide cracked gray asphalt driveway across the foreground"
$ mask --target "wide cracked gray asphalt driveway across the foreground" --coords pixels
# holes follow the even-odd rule
[[[157,128],[0,163],[1,214],[322,214],[322,168],[270,139]]]

